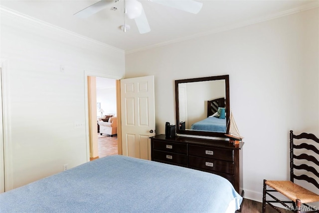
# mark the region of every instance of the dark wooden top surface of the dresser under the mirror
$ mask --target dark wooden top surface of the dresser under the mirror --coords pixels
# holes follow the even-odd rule
[[[244,142],[240,142],[239,144],[233,144],[233,143],[229,143],[229,141],[223,141],[223,140],[192,138],[192,137],[184,137],[184,136],[176,136],[175,138],[166,138],[165,135],[163,134],[153,136],[151,137],[151,139],[178,142],[178,143],[187,143],[187,144],[201,145],[201,146],[220,147],[225,149],[241,149],[244,145]]]

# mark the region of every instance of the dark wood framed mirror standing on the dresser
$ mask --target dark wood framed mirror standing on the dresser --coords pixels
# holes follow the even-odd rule
[[[229,75],[175,80],[176,133],[228,134]]]

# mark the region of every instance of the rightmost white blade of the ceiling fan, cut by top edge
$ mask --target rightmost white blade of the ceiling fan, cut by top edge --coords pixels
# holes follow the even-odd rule
[[[197,14],[203,3],[195,0],[151,0],[153,2]]]

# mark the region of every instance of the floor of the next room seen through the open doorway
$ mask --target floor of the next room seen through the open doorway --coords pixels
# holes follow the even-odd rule
[[[118,154],[118,137],[117,135],[106,136],[98,134],[98,148],[99,148],[99,157],[90,158],[90,161],[93,161],[98,158],[103,158],[109,155]]]

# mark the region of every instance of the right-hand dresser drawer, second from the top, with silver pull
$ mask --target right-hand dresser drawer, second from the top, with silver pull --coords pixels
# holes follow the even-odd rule
[[[188,166],[216,172],[234,174],[234,163],[229,161],[188,156]]]

